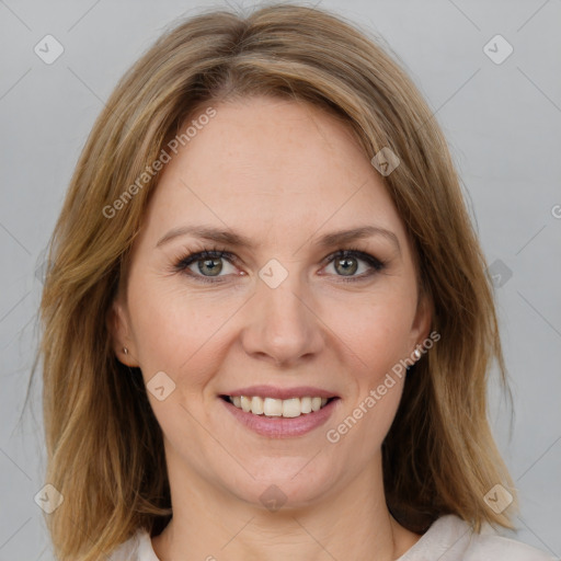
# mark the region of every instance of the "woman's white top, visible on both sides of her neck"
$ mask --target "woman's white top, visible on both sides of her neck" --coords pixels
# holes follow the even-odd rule
[[[485,525],[481,534],[454,514],[435,520],[416,543],[396,561],[559,561],[522,541],[499,536]],[[148,531],[139,529],[110,561],[160,561]]]

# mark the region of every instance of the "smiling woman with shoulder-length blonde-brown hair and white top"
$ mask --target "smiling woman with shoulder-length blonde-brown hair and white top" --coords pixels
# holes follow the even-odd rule
[[[550,559],[491,533],[505,368],[445,140],[339,18],[164,34],[94,125],[42,312],[61,561]]]

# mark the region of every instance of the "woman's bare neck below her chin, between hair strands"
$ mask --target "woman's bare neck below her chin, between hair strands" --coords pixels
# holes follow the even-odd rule
[[[276,512],[193,472],[170,470],[173,518],[152,547],[160,561],[393,561],[420,536],[390,515],[381,462],[368,468],[314,502]]]

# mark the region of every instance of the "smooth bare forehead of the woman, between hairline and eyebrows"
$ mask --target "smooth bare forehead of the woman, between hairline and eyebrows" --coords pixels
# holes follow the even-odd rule
[[[205,125],[195,113],[181,127],[180,134],[198,124],[171,154],[150,202],[149,230],[161,234],[196,220],[248,237],[301,239],[371,224],[404,238],[382,180],[347,124],[308,103],[271,98],[213,107]]]

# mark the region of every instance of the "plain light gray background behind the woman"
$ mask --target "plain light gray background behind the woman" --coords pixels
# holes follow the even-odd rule
[[[33,409],[19,419],[36,345],[36,267],[73,165],[122,73],[175,18],[209,5],[228,4],[0,0],[0,561],[51,559],[34,502],[44,484],[39,378]],[[391,48],[448,138],[485,255],[501,275],[512,425],[494,386],[490,409],[522,501],[515,537],[559,557],[561,1],[320,5]],[[46,34],[65,49],[51,65],[34,53]],[[483,49],[496,34],[514,48],[502,64]]]

